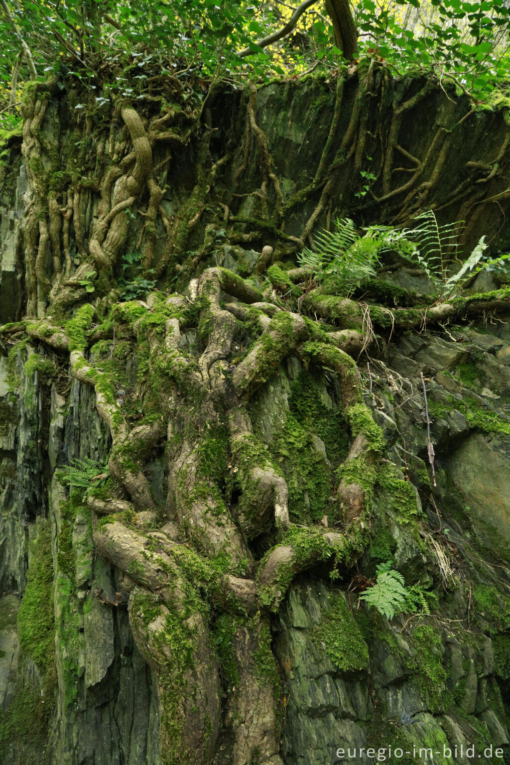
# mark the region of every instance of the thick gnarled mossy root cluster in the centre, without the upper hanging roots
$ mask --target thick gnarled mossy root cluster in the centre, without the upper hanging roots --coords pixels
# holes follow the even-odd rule
[[[271,370],[296,353],[338,376],[354,438],[346,470],[349,461],[376,464],[378,428],[361,403],[356,363],[335,345],[359,346],[356,332],[328,337],[316,322],[261,301],[256,288],[226,269],[206,269],[192,287],[203,338],[197,363],[190,363],[180,348],[180,330],[189,321],[182,313],[187,305],[183,298],[161,301],[154,294],[147,303],[115,307],[116,321],[130,325],[138,347],[146,348],[150,379],[141,383],[145,396],[159,398],[161,417],[134,428],[122,415],[106,373],[86,358],[96,333],[90,326],[94,315],[90,306],[80,308],[65,327],[39,321],[29,323],[27,330],[32,339],[70,353],[73,376],[94,387],[99,415],[112,435],[109,472],[123,496],[90,491],[89,507],[99,517],[93,538],[96,549],[133,583],[130,623],[141,653],[158,677],[167,762],[210,762],[219,734],[220,682],[205,614],[209,607],[220,607],[232,614],[235,623],[232,652],[238,681],[227,711],[234,762],[241,765],[258,753],[261,762],[279,763],[278,669],[265,610],[276,607],[297,572],[362,549],[360,529],[369,526],[369,490],[355,479],[341,484],[339,503],[345,521],[358,519],[346,534],[321,527],[287,531],[287,483],[255,437],[246,405]],[[224,293],[241,302],[221,308]],[[254,316],[263,321],[258,321],[260,337],[232,373],[234,315],[240,321],[252,321]],[[144,532],[136,524],[137,514],[148,517],[147,511],[157,507],[143,465],[165,435],[167,513],[178,526],[164,519],[158,529]],[[236,466],[240,489],[232,509],[218,484],[219,464],[226,454]],[[262,532],[271,537],[273,529],[291,537],[284,536],[257,565],[249,540]],[[265,675],[253,685],[254,656],[262,654]],[[177,726],[181,719],[184,724]]]

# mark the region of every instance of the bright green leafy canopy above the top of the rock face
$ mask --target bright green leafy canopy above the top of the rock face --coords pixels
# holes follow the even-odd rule
[[[348,0],[345,0],[348,2]],[[303,4],[302,4],[303,5]],[[220,78],[297,77],[333,70],[340,51],[324,2],[308,2],[290,34],[297,5],[250,0],[0,0],[0,128],[12,129],[21,86],[37,77],[79,77],[99,103],[115,92],[136,99],[152,69],[209,85]],[[476,99],[505,93],[510,9],[502,0],[359,0],[351,5],[359,56],[384,59],[404,74],[435,70]],[[248,49],[248,54],[247,54]],[[128,53],[126,53],[128,51]],[[244,51],[244,54],[240,55]],[[63,85],[62,85],[63,86]],[[203,96],[202,96],[203,97]]]

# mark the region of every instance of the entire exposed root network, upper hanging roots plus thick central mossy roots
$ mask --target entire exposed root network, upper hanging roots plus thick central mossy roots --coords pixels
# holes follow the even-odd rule
[[[337,6],[329,3],[328,11],[338,21]],[[385,210],[404,221],[424,200],[434,200],[456,125],[439,127],[421,159],[401,145],[399,135],[404,116],[430,93],[430,83],[395,109],[385,140],[382,129],[369,134],[373,95],[378,88],[388,88],[384,63],[372,60],[359,82],[346,132],[339,138],[345,82],[338,77],[332,121],[313,180],[286,203],[268,137],[255,119],[256,88],[250,89],[245,145],[234,180],[248,166],[256,142],[262,182],[253,193],[258,207],[254,215],[260,217],[232,215],[227,200],[223,220],[225,227],[239,223],[251,229],[240,233],[229,228],[231,242],[237,237],[274,245],[262,249],[252,281],[219,267],[195,269],[213,249],[213,224],[206,229],[206,245],[194,259],[184,261],[210,190],[230,158],[227,152],[213,160],[212,128],[205,125],[197,137],[191,193],[183,203],[177,200],[170,213],[164,194],[171,156],[160,161],[158,155],[158,167],[153,168],[153,151],[165,144],[187,145],[196,132],[196,116],[169,108],[164,116],[145,121],[131,106],[122,106],[109,135],[97,139],[87,123],[93,161],[83,177],[74,173],[72,181],[65,179],[55,190],[41,170],[49,151],[40,140],[48,95],[43,86],[34,87],[25,107],[23,151],[30,192],[23,236],[30,321],[13,331],[26,331],[34,343],[54,348],[55,356],[69,357],[70,374],[94,389],[97,411],[109,429],[109,482],[104,489],[89,490],[85,501],[94,513],[96,549],[124,572],[132,632],[158,678],[165,765],[210,763],[222,725],[230,728],[233,765],[246,765],[255,757],[265,765],[281,765],[281,689],[268,612],[278,607],[300,571],[319,562],[351,565],[369,542],[385,444],[363,403],[354,358],[371,339],[372,324],[393,331],[510,308],[510,291],[501,290],[390,311],[324,294],[307,269],[279,270],[282,252],[293,254],[317,225],[324,220],[329,225],[336,213],[339,168],[349,166],[359,174],[372,143],[381,146],[381,178],[376,184],[380,181],[377,187],[382,191],[369,204],[390,202]],[[174,89],[178,87],[174,83]],[[508,115],[505,119],[508,122]],[[507,148],[508,130],[491,163],[470,163],[473,173],[486,173],[479,186],[491,187]],[[395,168],[395,153],[401,164],[411,167]],[[161,167],[165,169],[158,174]],[[405,181],[392,187],[398,173],[406,174]],[[458,187],[453,197],[468,188],[469,184]],[[317,194],[318,200],[301,236],[285,233],[287,213],[310,194]],[[508,189],[491,191],[468,202],[499,201],[508,194]],[[224,201],[219,196],[215,203]],[[143,252],[143,269],[154,268],[160,286],[163,278],[173,281],[177,269],[182,280],[195,269],[192,275],[198,278],[191,279],[185,296],[154,291],[146,301],[115,303],[119,292],[112,291],[113,274],[131,236],[129,216],[138,207],[145,225],[133,239]],[[164,243],[158,247],[161,233]],[[262,281],[274,251],[277,263],[272,276],[270,269],[267,288]],[[65,321],[62,317],[70,307],[87,297],[91,281],[97,287],[93,298],[100,298],[96,309],[83,304]],[[278,297],[278,292],[289,290],[295,311],[285,310],[284,298]],[[106,306],[111,309],[109,318],[94,326]],[[89,356],[98,340],[112,340],[115,347],[119,337],[136,343],[138,378],[132,395],[139,419],[123,408],[112,373],[93,361],[96,356]],[[275,464],[255,417],[252,422],[257,396],[289,356],[305,368],[326,369],[336,379],[349,452],[335,477],[337,502],[330,512],[334,531],[319,525],[293,526],[287,468]],[[163,450],[166,501],[157,499],[149,480],[154,454],[161,457]],[[229,618],[229,649],[236,667],[223,722],[220,695],[227,681],[220,677],[213,636],[220,612]],[[263,671],[260,656],[265,657]]]

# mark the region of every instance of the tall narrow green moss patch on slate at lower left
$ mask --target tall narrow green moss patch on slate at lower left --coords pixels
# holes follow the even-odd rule
[[[34,540],[27,587],[18,611],[20,645],[44,671],[55,661],[53,589],[50,524],[44,521]]]

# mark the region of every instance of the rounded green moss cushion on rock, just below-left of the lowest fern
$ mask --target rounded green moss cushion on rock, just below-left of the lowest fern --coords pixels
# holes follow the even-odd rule
[[[328,606],[323,610],[320,624],[314,628],[312,637],[340,672],[359,672],[367,668],[368,646],[339,592],[330,593]]]

